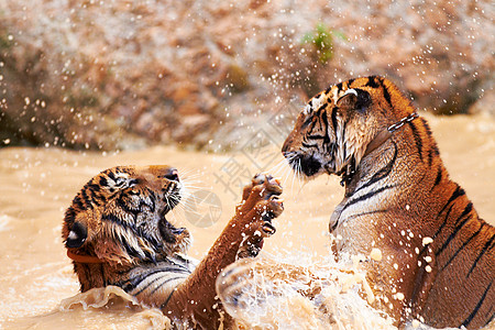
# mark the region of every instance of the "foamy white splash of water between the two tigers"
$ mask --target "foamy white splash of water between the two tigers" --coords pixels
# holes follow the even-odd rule
[[[355,258],[310,265],[310,255],[294,258],[262,257],[229,266],[218,279],[227,311],[250,329],[396,329],[370,306],[374,297]]]

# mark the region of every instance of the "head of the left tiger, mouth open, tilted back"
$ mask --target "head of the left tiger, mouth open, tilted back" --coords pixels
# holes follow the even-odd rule
[[[180,189],[177,169],[168,166],[103,170],[82,187],[65,212],[65,245],[74,254],[108,264],[186,253],[189,232],[165,218],[178,205]]]

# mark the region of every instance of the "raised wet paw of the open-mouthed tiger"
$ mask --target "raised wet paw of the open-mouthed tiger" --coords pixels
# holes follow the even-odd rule
[[[279,195],[283,189],[278,179],[271,175],[258,174],[244,187],[242,202],[238,207],[238,217],[246,230],[239,249],[238,257],[256,256],[263,248],[264,238],[276,232],[272,220],[284,211]]]

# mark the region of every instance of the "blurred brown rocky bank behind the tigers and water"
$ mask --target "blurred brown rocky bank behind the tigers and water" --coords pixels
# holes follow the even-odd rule
[[[360,75],[494,116],[494,16],[492,0],[0,1],[0,145],[235,148]]]

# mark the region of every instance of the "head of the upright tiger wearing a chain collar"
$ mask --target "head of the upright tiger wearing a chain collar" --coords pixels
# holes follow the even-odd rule
[[[385,78],[343,81],[308,101],[282,152],[306,178],[322,173],[350,176],[378,133],[413,111]]]

